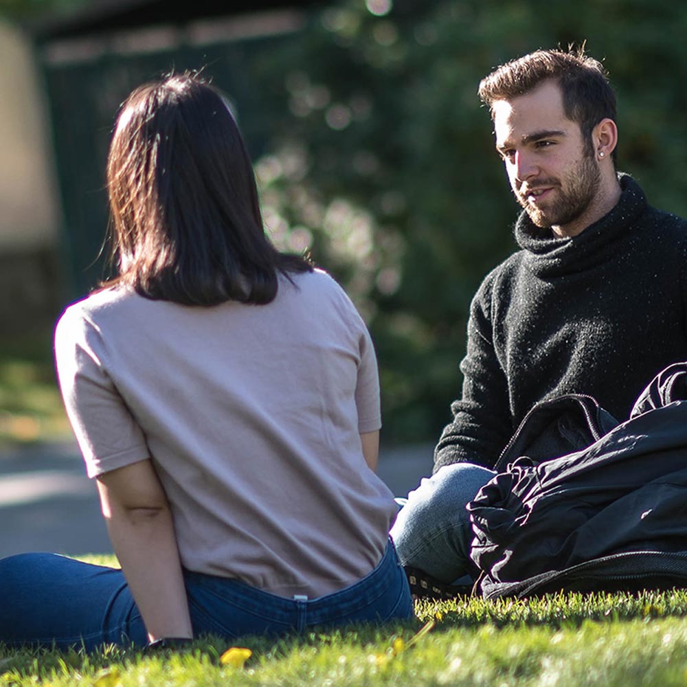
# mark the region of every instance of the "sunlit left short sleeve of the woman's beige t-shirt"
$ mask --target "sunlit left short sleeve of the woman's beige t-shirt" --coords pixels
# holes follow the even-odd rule
[[[69,423],[89,477],[148,458],[143,431],[106,370],[100,330],[79,304],[68,308],[56,326],[55,362]]]

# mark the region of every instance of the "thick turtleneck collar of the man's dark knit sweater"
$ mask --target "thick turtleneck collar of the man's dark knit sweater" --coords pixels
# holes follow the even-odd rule
[[[551,229],[532,223],[523,210],[515,223],[515,240],[525,254],[525,261],[539,277],[574,273],[603,262],[609,251],[636,218],[646,210],[646,196],[629,174],[618,174],[622,193],[613,210],[570,238],[553,236]]]

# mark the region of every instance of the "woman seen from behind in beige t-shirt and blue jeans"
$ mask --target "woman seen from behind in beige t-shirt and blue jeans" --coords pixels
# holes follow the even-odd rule
[[[60,388],[122,570],[0,561],[0,642],[145,645],[412,615],[376,477],[368,332],[264,234],[221,95],[133,91],[107,164],[115,278],[55,335]]]

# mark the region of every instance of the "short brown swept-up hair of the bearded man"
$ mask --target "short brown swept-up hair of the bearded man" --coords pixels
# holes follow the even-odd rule
[[[592,146],[596,124],[606,118],[616,120],[616,94],[606,69],[598,60],[585,55],[584,47],[568,52],[537,50],[511,60],[483,78],[477,92],[493,116],[495,101],[529,93],[549,79],[561,88],[565,116],[578,123],[585,145]]]

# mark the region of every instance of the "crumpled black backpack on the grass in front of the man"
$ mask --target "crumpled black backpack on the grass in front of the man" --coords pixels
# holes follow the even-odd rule
[[[468,505],[485,598],[687,587],[687,363],[622,424],[589,396],[540,403]]]

